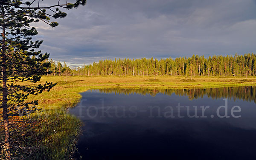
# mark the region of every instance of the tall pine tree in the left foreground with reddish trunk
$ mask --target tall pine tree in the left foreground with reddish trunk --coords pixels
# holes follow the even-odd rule
[[[67,9],[77,8],[84,5],[85,0],[77,0],[76,3],[59,4],[43,6],[41,0],[31,0],[31,2],[22,0],[0,0],[0,27],[2,29],[0,40],[0,87],[1,108],[3,113],[1,116],[4,121],[4,152],[5,159],[11,160],[16,157],[16,147],[11,139],[10,121],[12,124],[19,124],[21,120],[15,121],[14,116],[25,116],[37,109],[34,107],[37,101],[25,102],[30,94],[42,93],[44,90],[49,91],[54,84],[46,82],[38,86],[23,86],[18,84],[20,81],[28,81],[31,83],[38,82],[42,74],[47,74],[50,62],[47,62],[48,53],[36,51],[40,47],[42,41],[32,42],[32,36],[38,34],[35,27],[31,27],[32,22],[40,20],[56,27],[58,22],[50,22],[50,18],[64,18],[67,14],[60,11],[57,7]],[[37,3],[35,5],[35,3]],[[22,112],[20,114],[20,111]]]

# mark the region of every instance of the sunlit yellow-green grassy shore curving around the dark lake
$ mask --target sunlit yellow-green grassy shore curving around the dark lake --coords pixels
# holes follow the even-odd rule
[[[36,145],[41,146],[31,159],[70,159],[79,133],[81,122],[69,115],[67,110],[80,100],[79,93],[92,88],[210,88],[227,86],[256,86],[255,77],[143,77],[143,76],[43,76],[38,83],[57,82],[50,91],[33,95],[29,100],[38,100],[40,114],[34,115],[38,124],[33,128]],[[26,84],[29,85],[29,84]]]

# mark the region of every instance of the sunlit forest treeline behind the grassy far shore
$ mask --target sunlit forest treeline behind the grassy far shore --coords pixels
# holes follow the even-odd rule
[[[51,60],[51,75],[84,76],[256,76],[256,54],[178,57],[175,59],[105,59],[70,69]],[[66,75],[65,74],[65,75]]]

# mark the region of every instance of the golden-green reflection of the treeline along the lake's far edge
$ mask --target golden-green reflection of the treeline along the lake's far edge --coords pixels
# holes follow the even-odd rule
[[[254,101],[256,103],[256,87],[245,86],[245,87],[222,87],[222,88],[194,88],[194,89],[147,89],[147,88],[109,88],[109,89],[99,89],[102,93],[114,93],[114,94],[141,94],[141,95],[151,95],[155,96],[157,93],[165,95],[184,95],[188,96],[190,100],[203,98],[208,96],[212,99],[218,98],[234,98],[242,99],[244,101]]]

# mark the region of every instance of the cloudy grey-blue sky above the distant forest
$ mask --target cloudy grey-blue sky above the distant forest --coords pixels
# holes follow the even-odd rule
[[[54,3],[56,0],[44,0]],[[50,59],[79,66],[100,59],[256,53],[256,0],[87,0],[51,28],[35,26]]]

